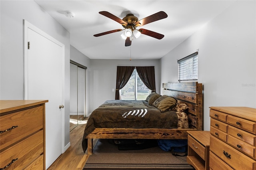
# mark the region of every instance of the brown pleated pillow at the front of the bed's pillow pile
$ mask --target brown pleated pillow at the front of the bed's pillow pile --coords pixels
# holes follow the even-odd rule
[[[153,106],[159,109],[161,112],[166,112],[170,109],[172,109],[176,105],[177,100],[166,96],[162,95],[156,101],[154,101]]]

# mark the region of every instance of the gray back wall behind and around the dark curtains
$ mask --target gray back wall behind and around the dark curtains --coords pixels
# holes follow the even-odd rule
[[[117,66],[154,66],[156,92],[160,93],[160,59],[91,59],[90,112],[107,100],[115,99]]]

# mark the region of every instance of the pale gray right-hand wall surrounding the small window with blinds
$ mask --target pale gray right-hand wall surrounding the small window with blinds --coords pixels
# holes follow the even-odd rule
[[[209,107],[256,108],[256,1],[236,1],[161,59],[161,83],[178,81],[177,59],[198,53],[204,85],[204,130]]]

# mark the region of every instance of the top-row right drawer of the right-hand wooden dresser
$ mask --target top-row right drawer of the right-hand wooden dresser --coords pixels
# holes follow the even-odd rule
[[[239,127],[244,130],[247,130],[248,132],[252,132],[252,133],[256,134],[256,132],[255,132],[256,131],[255,130],[256,123],[255,122],[241,119],[238,117],[234,117],[231,115],[228,115],[227,122],[230,123],[231,125],[234,125],[234,127]]]

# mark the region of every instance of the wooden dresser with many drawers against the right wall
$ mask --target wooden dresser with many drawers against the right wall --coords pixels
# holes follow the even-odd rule
[[[256,109],[210,107],[210,169],[256,170]]]

